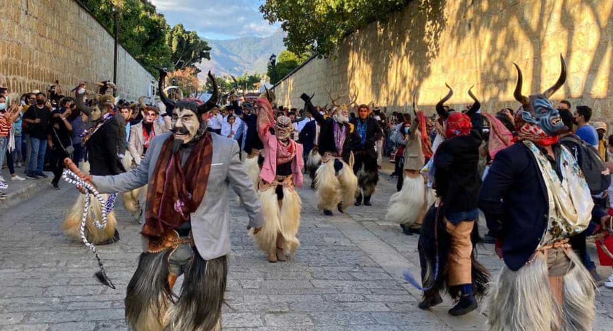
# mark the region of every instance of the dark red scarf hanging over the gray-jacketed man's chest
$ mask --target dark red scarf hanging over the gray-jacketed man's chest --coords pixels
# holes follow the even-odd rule
[[[164,141],[147,190],[143,236],[159,237],[190,220],[207,190],[213,160],[210,133],[196,143],[185,167],[181,152],[172,153],[173,136]]]

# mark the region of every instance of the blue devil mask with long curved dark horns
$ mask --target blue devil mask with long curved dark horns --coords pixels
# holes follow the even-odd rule
[[[560,112],[549,101],[549,97],[555,91],[558,91],[566,81],[566,63],[562,55],[560,55],[560,62],[562,62],[562,72],[560,72],[560,78],[554,86],[549,87],[543,94],[530,95],[530,97],[522,95],[522,70],[519,69],[519,65],[514,63],[517,69],[517,86],[515,87],[514,97],[524,107],[524,111],[521,113],[522,119],[525,122],[538,125],[549,136],[557,136],[568,130],[562,122]]]

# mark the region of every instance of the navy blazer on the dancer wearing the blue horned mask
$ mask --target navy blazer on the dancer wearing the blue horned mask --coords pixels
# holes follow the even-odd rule
[[[478,201],[487,227],[503,242],[504,263],[520,269],[536,250],[549,216],[545,182],[527,146],[516,143],[496,154]]]

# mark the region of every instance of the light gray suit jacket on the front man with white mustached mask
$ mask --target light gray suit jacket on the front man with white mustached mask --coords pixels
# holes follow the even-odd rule
[[[162,144],[171,134],[164,133],[151,139],[145,158],[137,168],[116,176],[93,176],[93,184],[101,193],[128,192],[148,184],[158,162]],[[194,241],[200,256],[205,260],[215,259],[230,252],[230,186],[242,198],[249,215],[249,226],[259,228],[264,225],[260,201],[253,188],[253,182],[245,173],[243,164],[238,158],[240,149],[237,142],[215,134],[211,136],[213,160],[211,173],[208,176],[207,192],[200,207],[191,215]],[[144,217],[145,213],[143,221]]]

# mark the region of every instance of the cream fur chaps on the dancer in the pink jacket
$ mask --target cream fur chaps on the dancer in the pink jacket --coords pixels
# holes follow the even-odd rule
[[[283,252],[287,256],[295,253],[300,245],[296,238],[300,227],[300,209],[302,201],[294,188],[269,187],[258,190],[257,195],[262,203],[264,226],[254,235],[257,246],[267,254],[275,253],[277,236],[283,236]]]

